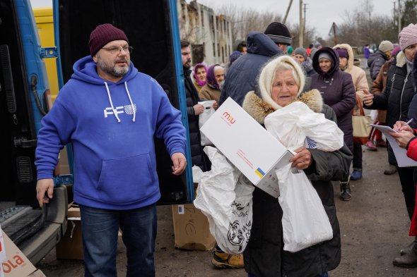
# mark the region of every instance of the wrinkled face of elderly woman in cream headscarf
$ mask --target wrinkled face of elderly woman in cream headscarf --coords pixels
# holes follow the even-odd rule
[[[296,97],[298,85],[293,77],[292,70],[279,70],[276,72],[274,82],[272,83],[271,98],[279,106],[287,106]]]

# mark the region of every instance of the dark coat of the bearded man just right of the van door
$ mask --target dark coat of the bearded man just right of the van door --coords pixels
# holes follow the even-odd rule
[[[199,102],[199,94],[194,87],[191,78],[191,70],[184,70],[185,97],[187,101],[189,145],[192,156],[192,166],[199,166],[203,171],[209,171],[211,163],[201,147],[201,136],[199,128],[199,116],[194,114],[193,106]]]

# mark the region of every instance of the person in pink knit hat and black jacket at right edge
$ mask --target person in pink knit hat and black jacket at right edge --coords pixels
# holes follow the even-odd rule
[[[409,107],[411,100],[416,95],[411,69],[414,56],[416,56],[417,52],[417,24],[410,24],[404,27],[399,33],[398,39],[401,51],[389,65],[387,85],[384,91],[381,94],[366,94],[363,97],[365,109],[387,110],[386,123],[389,127],[394,127],[397,121],[407,122],[411,119],[409,118]],[[387,150],[389,164],[397,166],[397,159],[389,143]],[[416,205],[415,183],[413,181],[414,170],[415,167],[397,166],[410,220],[413,218],[414,207]],[[400,254],[401,257],[397,257],[393,261],[395,266],[417,266],[417,237],[411,245],[401,250]]]

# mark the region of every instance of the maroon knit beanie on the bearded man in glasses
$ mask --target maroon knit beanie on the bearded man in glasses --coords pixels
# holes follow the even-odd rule
[[[119,28],[108,23],[98,25],[95,30],[91,32],[90,41],[88,42],[91,56],[94,56],[101,47],[105,46],[105,44],[119,39],[126,40],[129,43],[127,36]]]

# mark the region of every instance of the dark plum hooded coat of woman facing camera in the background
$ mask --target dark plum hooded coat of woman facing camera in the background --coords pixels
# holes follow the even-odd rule
[[[324,73],[319,67],[319,56],[326,52],[331,56],[331,69]],[[339,70],[339,55],[334,49],[323,47],[313,57],[313,68],[317,75],[312,75],[312,89],[322,92],[324,104],[334,109],[337,125],[344,133],[346,145],[353,152],[352,109],[356,104],[356,92],[352,76]]]

